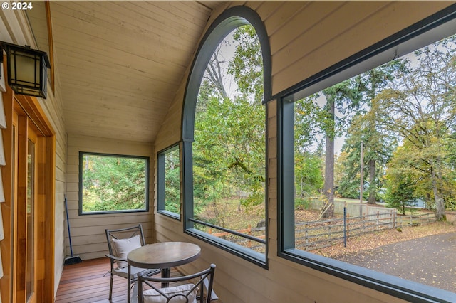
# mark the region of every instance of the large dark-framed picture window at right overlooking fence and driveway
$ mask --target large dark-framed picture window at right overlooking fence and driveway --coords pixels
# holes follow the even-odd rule
[[[410,302],[455,297],[455,21],[434,21],[281,100],[280,254]]]

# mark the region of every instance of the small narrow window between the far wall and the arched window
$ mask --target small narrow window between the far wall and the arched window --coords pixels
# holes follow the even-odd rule
[[[158,153],[158,212],[180,219],[179,145]]]

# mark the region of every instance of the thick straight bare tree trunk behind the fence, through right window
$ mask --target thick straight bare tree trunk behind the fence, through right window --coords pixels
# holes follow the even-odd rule
[[[334,103],[330,105],[329,113],[334,119]],[[326,211],[323,213],[323,218],[331,218],[334,216],[334,138],[327,134],[323,191],[326,197]]]

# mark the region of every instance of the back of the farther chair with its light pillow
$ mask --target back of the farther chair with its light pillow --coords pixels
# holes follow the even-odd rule
[[[105,229],[108,241],[109,254],[123,260],[117,260],[118,267],[127,266],[126,257],[128,252],[145,245],[142,225],[134,225],[128,228]],[[111,259],[113,263],[113,259]]]

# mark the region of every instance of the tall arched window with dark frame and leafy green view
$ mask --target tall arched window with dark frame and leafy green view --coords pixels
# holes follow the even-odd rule
[[[202,40],[182,116],[185,232],[266,265],[266,108],[270,50],[247,7]]]

